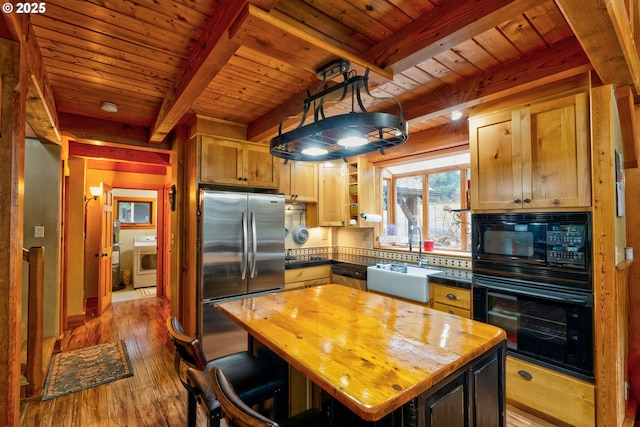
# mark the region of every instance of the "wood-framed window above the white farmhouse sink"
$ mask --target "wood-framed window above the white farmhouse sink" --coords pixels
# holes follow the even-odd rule
[[[469,154],[387,167],[382,177],[381,246],[414,249],[422,245],[419,227],[436,249],[471,250]]]

